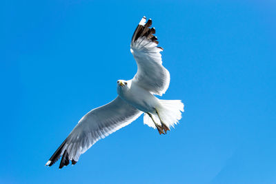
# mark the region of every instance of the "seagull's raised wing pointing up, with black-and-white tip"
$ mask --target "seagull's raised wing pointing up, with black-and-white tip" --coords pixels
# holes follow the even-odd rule
[[[132,82],[161,96],[170,84],[170,73],[162,65],[160,52],[163,48],[157,47],[157,37],[153,35],[155,28],[149,28],[151,24],[151,19],[146,22],[143,17],[132,36],[130,51],[138,66]]]

